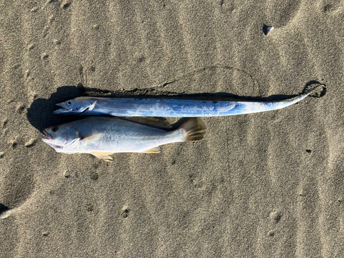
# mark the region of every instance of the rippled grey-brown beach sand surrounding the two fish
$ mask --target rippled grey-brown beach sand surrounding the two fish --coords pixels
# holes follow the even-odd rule
[[[343,257],[343,21],[343,1],[1,1],[0,257]],[[282,100],[317,82],[158,154],[40,140],[89,88]]]

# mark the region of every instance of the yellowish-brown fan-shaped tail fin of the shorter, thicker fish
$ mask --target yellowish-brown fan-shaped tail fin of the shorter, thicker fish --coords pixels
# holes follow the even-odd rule
[[[202,140],[206,133],[206,126],[200,118],[190,118],[179,129],[185,131],[184,141]]]

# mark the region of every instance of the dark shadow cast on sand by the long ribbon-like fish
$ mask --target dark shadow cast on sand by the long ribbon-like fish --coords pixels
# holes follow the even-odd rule
[[[314,88],[314,85],[319,85],[316,80],[311,80],[303,88],[303,93],[308,92],[310,89]],[[312,97],[321,98],[326,93],[326,88],[323,86],[322,92],[319,94],[311,94]],[[100,90],[91,87],[84,87],[82,84],[77,86],[63,86],[59,87],[56,92],[54,92],[50,98],[38,98],[34,100],[30,108],[28,108],[27,118],[30,124],[43,131],[47,127],[53,125],[59,125],[64,122],[72,122],[73,120],[82,119],[85,116],[76,115],[57,115],[53,114],[56,110],[56,103],[61,103],[65,100],[72,98],[77,98],[80,96],[94,96],[94,97],[106,97],[106,98],[164,98],[164,99],[185,99],[185,100],[213,100],[213,101],[259,101],[259,102],[272,102],[281,101],[287,98],[293,98],[299,96],[299,94],[294,95],[272,95],[269,97],[259,97],[259,96],[238,96],[235,94],[229,94],[226,92],[218,93],[200,93],[200,94],[184,94],[180,92],[167,92],[164,89],[131,89],[131,90],[119,90],[116,92],[111,92],[109,90]],[[165,120],[164,118],[158,118],[160,120]],[[186,118],[181,118],[176,124],[181,125]]]

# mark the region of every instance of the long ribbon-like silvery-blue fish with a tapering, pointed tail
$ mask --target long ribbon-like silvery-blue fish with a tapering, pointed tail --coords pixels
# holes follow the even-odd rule
[[[61,108],[54,111],[54,114],[158,117],[231,116],[282,109],[303,100],[314,89],[307,94],[279,102],[78,97],[56,104]]]

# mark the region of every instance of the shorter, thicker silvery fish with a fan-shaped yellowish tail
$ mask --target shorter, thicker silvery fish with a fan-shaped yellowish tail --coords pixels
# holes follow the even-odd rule
[[[109,161],[112,153],[158,153],[162,144],[202,140],[205,130],[200,118],[190,118],[177,129],[166,130],[140,121],[91,116],[49,127],[43,131],[46,138],[42,140],[57,152],[90,153]]]

